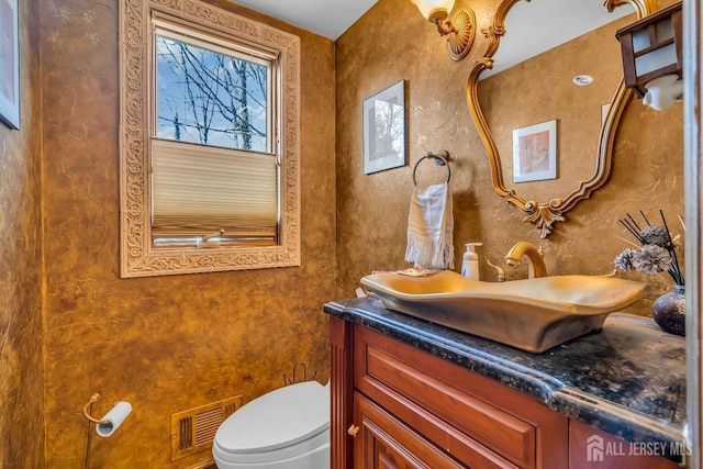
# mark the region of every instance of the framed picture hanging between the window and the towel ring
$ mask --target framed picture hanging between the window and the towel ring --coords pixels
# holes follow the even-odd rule
[[[364,174],[405,166],[405,80],[364,101]]]

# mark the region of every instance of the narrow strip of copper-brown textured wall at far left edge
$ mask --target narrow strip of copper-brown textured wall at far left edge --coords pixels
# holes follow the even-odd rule
[[[44,466],[38,8],[19,2],[20,131],[0,123],[0,467]],[[0,79],[4,80],[5,77]]]

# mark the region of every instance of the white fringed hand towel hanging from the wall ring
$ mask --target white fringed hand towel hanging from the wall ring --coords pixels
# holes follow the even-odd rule
[[[428,269],[454,269],[453,232],[449,185],[415,186],[408,215],[405,260]]]

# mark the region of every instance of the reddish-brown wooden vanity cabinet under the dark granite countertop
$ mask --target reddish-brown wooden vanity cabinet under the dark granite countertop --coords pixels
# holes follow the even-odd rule
[[[569,418],[537,400],[352,322],[330,327],[332,469],[583,467]]]

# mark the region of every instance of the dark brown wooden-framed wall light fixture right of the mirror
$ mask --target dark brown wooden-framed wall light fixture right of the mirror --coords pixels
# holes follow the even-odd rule
[[[681,2],[644,18],[615,36],[623,52],[625,86],[659,111],[683,93]]]

